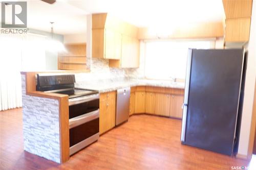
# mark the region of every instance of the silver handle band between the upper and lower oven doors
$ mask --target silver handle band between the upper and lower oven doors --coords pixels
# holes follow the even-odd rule
[[[99,109],[86,114],[82,114],[77,117],[73,117],[69,119],[69,129],[90,122],[91,120],[94,120],[96,118],[99,118]]]

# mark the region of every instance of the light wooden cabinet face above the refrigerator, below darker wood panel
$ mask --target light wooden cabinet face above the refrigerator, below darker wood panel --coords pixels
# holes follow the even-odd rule
[[[225,41],[249,41],[251,18],[226,19]]]

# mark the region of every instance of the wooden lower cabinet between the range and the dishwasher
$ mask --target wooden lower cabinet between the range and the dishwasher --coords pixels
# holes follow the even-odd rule
[[[99,103],[99,133],[115,127],[116,91],[101,93]]]

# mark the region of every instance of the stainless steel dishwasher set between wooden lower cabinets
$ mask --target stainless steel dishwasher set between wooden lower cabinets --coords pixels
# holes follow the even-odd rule
[[[120,125],[129,118],[131,88],[117,90],[116,95],[116,125]]]

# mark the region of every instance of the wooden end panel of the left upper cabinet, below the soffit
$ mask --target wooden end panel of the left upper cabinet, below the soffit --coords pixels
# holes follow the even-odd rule
[[[92,29],[92,57],[104,58],[104,29]]]

